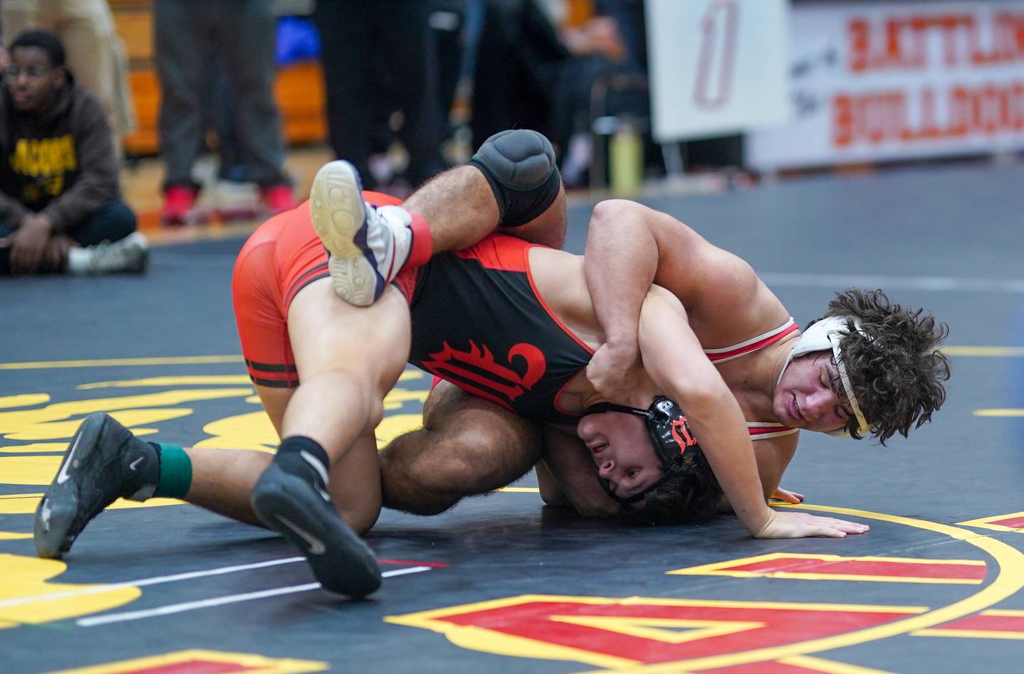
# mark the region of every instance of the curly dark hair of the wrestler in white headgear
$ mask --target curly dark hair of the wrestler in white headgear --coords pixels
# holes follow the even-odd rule
[[[851,319],[840,351],[871,435],[885,445],[897,432],[906,437],[930,420],[946,399],[942,382],[949,379],[949,361],[939,344],[949,327],[924,309],[891,302],[881,290],[836,293],[825,310],[825,317],[834,315]],[[861,437],[855,418],[846,430]]]

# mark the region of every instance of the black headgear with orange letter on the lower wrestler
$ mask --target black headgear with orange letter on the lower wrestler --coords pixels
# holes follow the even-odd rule
[[[656,482],[627,499],[615,496],[608,480],[599,476],[597,479],[604,491],[620,503],[636,503],[642,500],[648,492],[669,477],[692,469],[694,460],[700,456],[700,446],[697,445],[696,437],[686,423],[682,408],[664,395],[655,397],[646,410],[614,403],[598,403],[584,410],[584,415],[604,412],[622,412],[643,417],[647,435],[650,436],[651,445],[654,447],[654,455],[660,460],[662,468],[665,469],[665,474]]]

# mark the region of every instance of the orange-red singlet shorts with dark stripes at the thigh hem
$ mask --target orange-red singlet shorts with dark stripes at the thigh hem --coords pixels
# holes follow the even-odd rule
[[[362,198],[374,206],[401,204],[376,192],[364,192]],[[407,298],[415,271],[403,270],[395,280]],[[275,388],[299,385],[288,338],[288,307],[300,290],[328,276],[327,251],[313,229],[308,202],[275,215],[249,237],[234,262],[231,294],[242,354],[253,383]]]

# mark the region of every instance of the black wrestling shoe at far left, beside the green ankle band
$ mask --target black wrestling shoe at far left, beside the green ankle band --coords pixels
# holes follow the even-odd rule
[[[65,452],[60,470],[36,508],[40,557],[59,558],[90,519],[118,497],[144,501],[157,490],[157,450],[105,414],[90,414]]]

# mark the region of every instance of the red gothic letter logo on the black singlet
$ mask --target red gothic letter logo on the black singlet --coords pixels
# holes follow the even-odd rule
[[[443,348],[431,353],[430,357],[433,360],[423,363],[425,370],[509,410],[513,409],[513,401],[530,390],[548,369],[541,349],[525,342],[509,349],[506,365],[495,361],[486,344],[477,346],[473,341],[469,342],[468,351],[460,351],[443,342]],[[522,375],[510,367],[516,359],[526,364]]]

